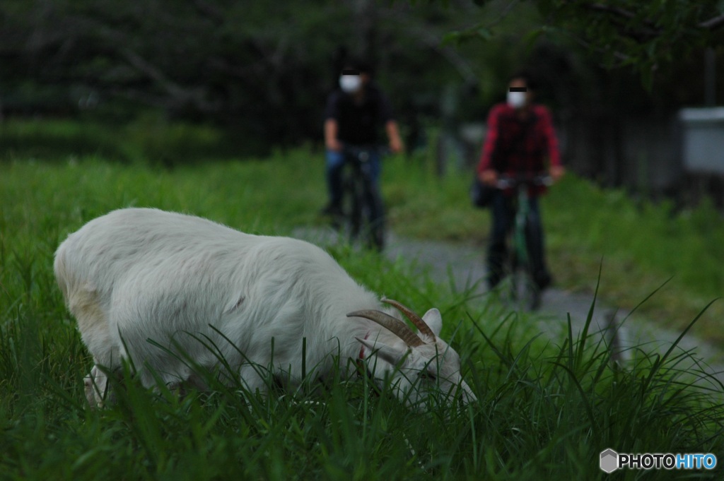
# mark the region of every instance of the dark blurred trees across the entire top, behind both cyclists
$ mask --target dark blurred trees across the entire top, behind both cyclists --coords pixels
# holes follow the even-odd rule
[[[340,64],[363,56],[408,130],[481,122],[521,67],[560,116],[670,111],[703,103],[722,25],[720,0],[4,0],[0,101],[7,116],[152,111],[289,145],[319,139]]]

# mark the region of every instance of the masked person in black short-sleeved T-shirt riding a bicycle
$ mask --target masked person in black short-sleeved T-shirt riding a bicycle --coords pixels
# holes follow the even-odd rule
[[[374,147],[379,143],[378,130],[384,127],[390,140],[390,150],[403,150],[397,122],[392,108],[382,90],[372,81],[372,69],[361,61],[342,69],[340,88],[327,100],[324,114],[324,145],[327,148],[327,189],[329,204],[322,212],[330,215],[341,213],[342,169],[345,165],[344,147]],[[379,192],[379,175],[382,171],[380,155],[371,150],[371,184]],[[381,198],[381,197],[380,197]],[[372,214],[373,221],[381,221],[383,213]]]

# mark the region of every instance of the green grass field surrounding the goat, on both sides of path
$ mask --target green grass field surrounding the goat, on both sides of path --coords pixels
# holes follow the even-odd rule
[[[630,365],[615,366],[605,346],[585,337],[536,337],[534,319],[527,315],[508,312],[492,299],[471,302],[466,292],[413,275],[405,260],[388,263],[345,247],[332,249],[332,255],[363,284],[416,310],[439,307],[447,323],[443,337],[452,338],[479,402],[460,410],[440,405],[410,412],[365,380],[340,380],[313,393],[303,386],[267,399],[242,386],[214,384],[209,393],[180,399],[127,379],[117,404],[90,410],[82,382],[90,358],[52,274],[59,242],[91,218],[130,205],[182,210],[264,234],[319,223],[316,212],[325,200],[321,153],[302,149],[173,170],[96,156],[52,162],[13,157],[0,164],[0,479],[588,480],[608,477],[598,467],[605,448],[724,454],[723,389],[713,380],[694,384],[697,373],[681,371],[678,365],[691,354],[673,350],[660,357],[641,349]],[[487,213],[468,207],[467,176],[440,181],[403,159],[390,159],[386,169],[384,195],[393,229],[483,239]],[[613,204],[610,210],[606,202]],[[633,250],[634,233],[647,235],[666,224],[659,208],[644,207],[647,216],[656,213],[651,224],[636,221],[640,211],[625,197],[579,179],[561,184],[544,208],[550,212],[552,264],[561,283],[591,289],[602,255],[601,289],[616,302],[618,282],[644,289],[632,302],[648,294],[631,271],[646,273],[651,286],[672,275],[665,263],[649,265],[649,256],[640,259]],[[594,210],[585,208],[598,209],[610,229],[596,227]],[[679,244],[681,252],[684,242],[699,235],[698,242],[710,242],[706,229],[713,223],[698,216],[704,213],[675,218],[664,246]],[[622,219],[633,224],[615,224]],[[703,234],[689,222],[700,223]],[[623,230],[631,225],[638,229]],[[557,233],[564,228],[567,234]],[[617,229],[609,239],[606,232]],[[586,242],[574,249],[578,239]],[[673,248],[661,247],[654,255],[648,252],[653,247],[641,243],[636,248],[654,259],[666,259],[665,249]],[[705,273],[713,260],[696,255],[716,246],[695,245],[683,257],[702,262],[702,278],[709,279]],[[720,255],[718,249],[704,254]],[[617,269],[622,273],[610,273]],[[681,284],[689,283],[683,272],[668,285],[683,289]],[[696,299],[675,307],[702,309],[718,289],[710,280],[703,284],[710,290],[686,285],[690,290],[683,292],[696,293]],[[633,299],[636,293],[628,295]],[[674,325],[696,317],[669,308],[652,312],[661,310],[660,322]],[[720,467],[625,471],[612,479],[721,474]]]

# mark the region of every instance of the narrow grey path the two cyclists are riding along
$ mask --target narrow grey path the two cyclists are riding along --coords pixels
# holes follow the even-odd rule
[[[293,232],[295,237],[306,239],[324,247],[337,242],[337,234],[330,229],[300,228]],[[403,258],[416,263],[419,268],[429,271],[433,278],[444,283],[450,276],[458,290],[474,286],[476,294],[485,294],[487,286],[484,282],[486,268],[484,265],[484,252],[471,244],[453,244],[421,239],[408,239],[391,234],[387,240],[384,251],[390,260]],[[560,333],[565,328],[568,315],[571,317],[573,334],[577,336],[584,328],[589,315],[593,294],[581,294],[552,288],[544,292],[542,305],[539,310],[538,328],[551,339],[560,340]],[[662,328],[639,315],[630,315],[630,312],[615,310],[604,302],[597,301],[592,316],[589,333],[596,336],[613,336],[617,333],[618,346],[621,357],[630,358],[634,355],[637,346],[644,346],[648,352],[664,353],[675,342],[681,332]],[[622,320],[623,325],[614,330],[610,326],[618,326]],[[696,352],[696,357],[708,365],[707,372],[715,374],[724,383],[724,352],[717,346],[703,339],[687,335],[678,344],[681,349]],[[678,366],[679,368],[694,369],[691,366]]]

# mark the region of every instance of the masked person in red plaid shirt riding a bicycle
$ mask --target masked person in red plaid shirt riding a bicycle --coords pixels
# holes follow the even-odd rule
[[[477,172],[484,184],[495,186],[500,176],[533,177],[548,171],[553,181],[563,176],[558,142],[550,111],[532,103],[534,85],[526,72],[510,78],[507,102],[490,111],[487,135]],[[546,162],[548,167],[546,168]],[[551,283],[543,242],[538,196],[544,186],[529,187],[530,222],[533,235],[529,255],[534,280],[540,290]],[[492,232],[488,246],[488,286],[493,289],[505,276],[508,255],[505,237],[515,216],[513,191],[496,189],[492,198]]]

